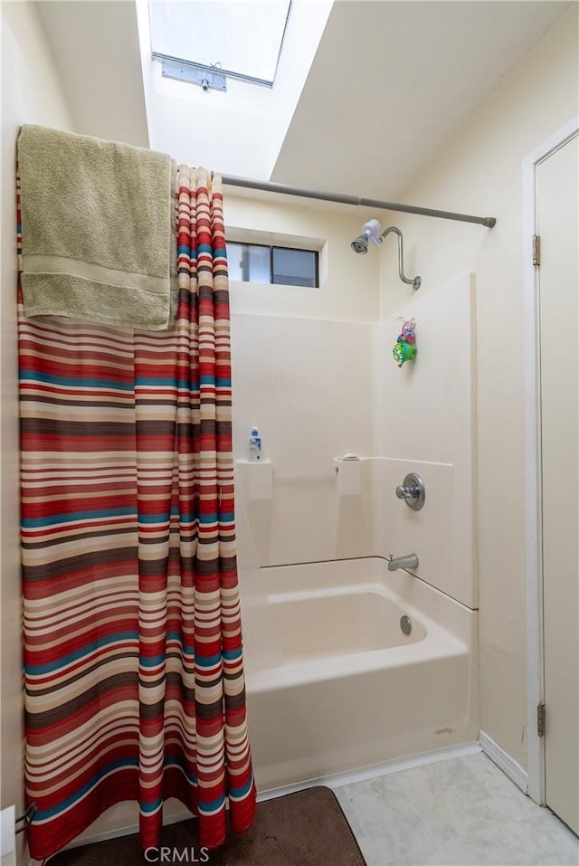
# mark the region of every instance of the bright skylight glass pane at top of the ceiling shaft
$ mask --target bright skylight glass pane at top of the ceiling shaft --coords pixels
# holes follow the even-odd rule
[[[153,0],[153,55],[271,85],[290,5],[289,0]]]

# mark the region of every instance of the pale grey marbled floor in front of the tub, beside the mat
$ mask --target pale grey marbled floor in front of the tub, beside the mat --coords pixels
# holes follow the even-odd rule
[[[482,753],[335,789],[368,866],[577,866],[579,840]]]

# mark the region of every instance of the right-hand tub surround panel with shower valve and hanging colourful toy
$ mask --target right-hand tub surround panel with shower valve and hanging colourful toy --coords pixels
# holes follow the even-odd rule
[[[376,326],[376,453],[388,460],[375,480],[375,553],[393,537],[420,557],[420,576],[462,604],[479,606],[477,557],[477,291],[472,273],[413,295]],[[416,361],[397,369],[379,348],[416,319]],[[390,495],[407,471],[426,486],[422,511],[397,508]],[[416,519],[413,519],[416,518]]]

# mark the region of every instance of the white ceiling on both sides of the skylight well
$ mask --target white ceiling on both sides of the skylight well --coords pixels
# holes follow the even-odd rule
[[[155,146],[137,24],[143,3],[38,4],[78,132]],[[337,0],[269,160],[273,169],[260,179],[370,198],[402,195],[571,3]],[[254,166],[218,167],[257,176]]]

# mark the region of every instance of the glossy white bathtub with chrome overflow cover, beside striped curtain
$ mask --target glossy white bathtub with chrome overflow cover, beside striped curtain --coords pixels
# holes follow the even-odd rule
[[[242,569],[240,588],[261,791],[478,737],[476,611],[380,557]]]

